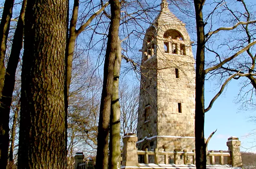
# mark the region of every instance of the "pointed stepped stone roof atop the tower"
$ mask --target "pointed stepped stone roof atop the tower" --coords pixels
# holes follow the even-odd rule
[[[175,25],[184,25],[184,23],[169,10],[168,2],[166,0],[162,0],[161,11],[156,16],[153,24],[157,25],[159,22],[172,23]]]

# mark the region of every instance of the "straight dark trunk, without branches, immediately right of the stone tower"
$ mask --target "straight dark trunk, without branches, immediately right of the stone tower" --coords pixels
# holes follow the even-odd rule
[[[204,0],[194,0],[196,11],[197,49],[196,49],[196,168],[206,169],[206,145],[204,142]]]

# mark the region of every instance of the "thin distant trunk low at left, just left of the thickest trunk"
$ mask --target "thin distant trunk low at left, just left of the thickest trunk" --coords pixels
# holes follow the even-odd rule
[[[12,122],[11,147],[10,147],[10,153],[9,153],[9,166],[10,166],[9,168],[14,167],[13,151],[14,151],[14,141],[15,141],[15,135],[16,135],[16,121],[17,121],[19,111],[20,111],[20,100],[14,112],[13,122]]]

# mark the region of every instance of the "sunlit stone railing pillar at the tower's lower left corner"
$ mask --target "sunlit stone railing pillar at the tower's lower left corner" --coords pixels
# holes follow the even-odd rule
[[[136,142],[138,137],[134,133],[126,133],[123,137],[123,160],[122,166],[138,166],[138,154]]]

